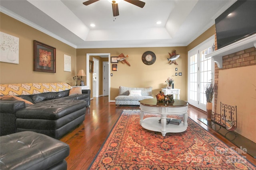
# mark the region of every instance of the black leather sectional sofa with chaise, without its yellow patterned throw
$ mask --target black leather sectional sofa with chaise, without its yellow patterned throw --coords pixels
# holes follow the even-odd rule
[[[60,139],[84,121],[90,90],[69,96],[70,90],[18,96],[24,101],[0,101],[0,135],[34,131]]]

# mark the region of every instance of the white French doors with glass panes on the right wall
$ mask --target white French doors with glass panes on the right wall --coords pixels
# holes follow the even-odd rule
[[[214,36],[188,51],[188,102],[206,111],[205,86],[214,82],[214,61],[205,55],[212,53]],[[214,100],[213,100],[214,101]]]

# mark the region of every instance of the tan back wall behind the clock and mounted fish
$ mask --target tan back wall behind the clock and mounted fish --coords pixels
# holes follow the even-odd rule
[[[177,59],[178,65],[168,64],[167,58],[170,57],[168,53],[172,53],[173,50],[180,54],[180,57]],[[142,63],[141,59],[142,54],[146,51],[152,51],[156,54],[156,62],[149,66]],[[131,66],[119,62],[117,71],[112,71],[112,63],[110,63],[110,73],[113,73],[113,76],[110,77],[110,100],[114,100],[118,96],[119,86],[152,86],[152,95],[155,96],[161,88],[166,87],[166,79],[175,75],[175,72],[182,72],[182,76],[174,77],[174,87],[180,89],[180,99],[187,100],[186,47],[77,49],[77,68],[86,68],[86,53],[110,53],[112,57],[123,53],[125,56],[129,56],[126,60]],[[175,71],[175,68],[178,68],[178,71]]]

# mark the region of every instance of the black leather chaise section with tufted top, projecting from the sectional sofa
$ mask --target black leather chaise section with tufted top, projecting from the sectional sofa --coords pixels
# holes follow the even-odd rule
[[[46,100],[16,111],[16,132],[34,131],[55,139],[84,121],[87,103],[83,100]]]

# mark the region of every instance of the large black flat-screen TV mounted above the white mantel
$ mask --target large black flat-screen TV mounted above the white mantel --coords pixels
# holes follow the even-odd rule
[[[238,0],[215,20],[218,49],[256,33],[256,0]]]

